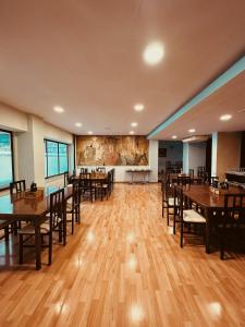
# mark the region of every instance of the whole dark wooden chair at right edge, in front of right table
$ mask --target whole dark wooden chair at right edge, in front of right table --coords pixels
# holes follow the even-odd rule
[[[224,259],[225,250],[231,239],[245,240],[245,194],[225,194],[224,208],[220,217],[218,232],[220,235],[220,258]]]

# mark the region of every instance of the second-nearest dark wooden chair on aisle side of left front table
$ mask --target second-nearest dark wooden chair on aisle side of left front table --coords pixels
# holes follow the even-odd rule
[[[66,203],[66,214],[72,218],[66,217],[66,223],[72,223],[72,234],[74,233],[74,222],[81,223],[81,185],[79,181],[73,181],[72,201]]]

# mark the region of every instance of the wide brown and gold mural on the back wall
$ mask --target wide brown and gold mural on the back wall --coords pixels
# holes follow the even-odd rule
[[[77,166],[148,166],[145,136],[77,136]]]

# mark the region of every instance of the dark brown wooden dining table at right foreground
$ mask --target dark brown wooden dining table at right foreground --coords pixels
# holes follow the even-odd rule
[[[244,194],[245,190],[230,186],[229,190],[222,190],[221,194],[215,194],[208,185],[187,185],[176,186],[183,189],[184,201],[188,202],[189,207],[195,203],[203,211],[206,218],[206,252],[211,250],[211,231],[220,221],[220,214],[224,207],[224,194]],[[245,207],[245,203],[244,203]]]

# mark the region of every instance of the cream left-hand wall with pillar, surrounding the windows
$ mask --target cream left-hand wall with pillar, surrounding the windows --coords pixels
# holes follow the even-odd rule
[[[44,138],[70,144],[70,167],[73,169],[73,135],[56,128],[41,118],[0,104],[0,128],[13,131],[15,179],[25,179],[27,186],[37,182],[39,186],[63,184],[63,175],[45,180]],[[71,170],[72,170],[71,169]]]

